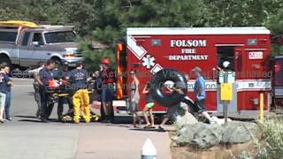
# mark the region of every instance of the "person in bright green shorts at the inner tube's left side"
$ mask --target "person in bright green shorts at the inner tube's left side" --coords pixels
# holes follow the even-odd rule
[[[146,104],[144,106],[144,109],[142,111],[142,115],[145,119],[145,121],[147,122],[147,125],[144,126],[144,128],[154,128],[154,117],[152,114],[152,109],[154,107],[154,100],[151,96],[150,93],[150,83],[148,82],[147,85],[143,88],[142,90],[142,94],[146,95]],[[149,122],[149,117],[147,115],[147,112],[149,112],[149,117],[150,117],[150,122]]]

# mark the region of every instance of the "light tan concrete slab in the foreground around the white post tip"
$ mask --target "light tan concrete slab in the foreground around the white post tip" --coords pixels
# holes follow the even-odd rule
[[[168,133],[130,130],[126,125],[82,127],[76,158],[141,158],[142,146],[147,138],[157,148],[157,158],[172,158]]]

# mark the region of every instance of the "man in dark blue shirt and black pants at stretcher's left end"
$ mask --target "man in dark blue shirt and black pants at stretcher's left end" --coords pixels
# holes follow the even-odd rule
[[[48,117],[53,109],[54,102],[50,102],[50,94],[47,92],[49,82],[53,79],[53,68],[55,67],[55,62],[53,60],[48,60],[46,66],[42,68],[39,72],[37,81],[39,83],[39,92],[41,95],[42,102],[42,122],[48,123]]]

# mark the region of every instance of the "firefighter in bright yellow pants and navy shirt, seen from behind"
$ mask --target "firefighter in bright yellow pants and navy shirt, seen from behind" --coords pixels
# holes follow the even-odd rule
[[[82,63],[76,65],[76,69],[69,72],[66,79],[71,82],[73,94],[73,121],[80,123],[80,110],[86,123],[90,122],[90,104],[88,96],[88,72],[84,70]]]

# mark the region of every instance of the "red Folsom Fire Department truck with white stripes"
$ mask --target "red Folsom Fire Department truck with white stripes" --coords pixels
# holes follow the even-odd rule
[[[195,78],[191,75],[192,69],[198,66],[206,79],[206,110],[222,112],[218,67],[228,61],[234,72],[229,112],[259,110],[261,93],[264,94],[264,110],[269,110],[270,36],[270,30],[265,27],[127,28],[126,44],[119,43],[116,49],[118,99],[128,99],[129,72],[135,70],[139,72],[141,83],[139,110],[142,110],[145,105],[142,87],[164,68],[188,74],[187,95],[195,99]],[[164,113],[165,108],[157,104],[153,112]]]

